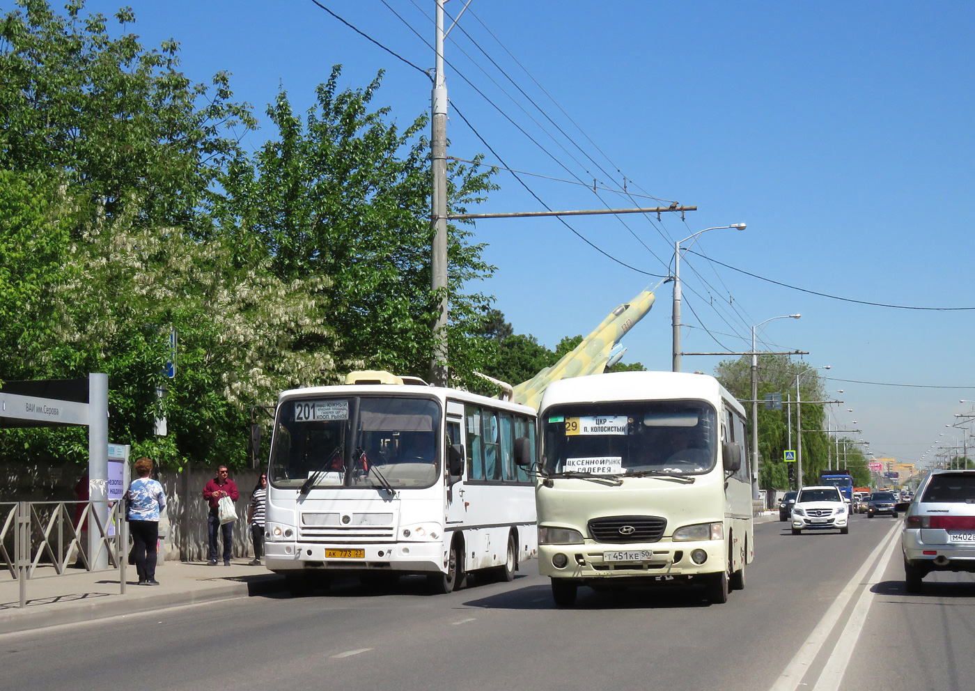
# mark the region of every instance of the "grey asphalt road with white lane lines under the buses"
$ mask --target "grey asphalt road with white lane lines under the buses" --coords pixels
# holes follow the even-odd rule
[[[535,562],[512,583],[427,595],[404,578],[0,636],[11,689],[962,689],[975,680],[975,580],[904,593],[899,521],[849,535],[756,526],[744,591],[596,593],[559,609]],[[866,585],[864,585],[866,584]]]

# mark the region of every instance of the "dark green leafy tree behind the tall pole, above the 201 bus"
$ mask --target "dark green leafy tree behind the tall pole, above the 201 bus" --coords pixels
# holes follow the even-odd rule
[[[336,333],[336,361],[426,376],[436,313],[430,289],[429,145],[426,116],[401,132],[388,108],[370,110],[382,74],[366,89],[340,90],[340,67],[317,90],[305,119],[285,93],[268,109],[278,130],[253,157],[239,156],[222,180],[228,234],[255,238],[283,280],[329,276],[324,288]],[[481,201],[492,171],[448,167],[451,212]],[[493,271],[470,231],[448,225],[453,375],[482,365],[474,334],[491,317],[489,298],[465,287]]]

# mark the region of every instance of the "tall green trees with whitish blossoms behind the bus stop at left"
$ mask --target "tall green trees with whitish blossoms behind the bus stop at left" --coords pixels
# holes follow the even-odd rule
[[[107,372],[114,441],[176,465],[243,462],[251,404],[335,376],[328,277],[279,278],[212,232],[231,128],[254,120],[225,76],[212,92],[180,74],[175,43],[112,39],[83,2],[67,17],[19,6],[0,24],[0,378]],[[156,437],[163,412],[170,434]],[[83,429],[0,444],[7,458],[87,456]]]

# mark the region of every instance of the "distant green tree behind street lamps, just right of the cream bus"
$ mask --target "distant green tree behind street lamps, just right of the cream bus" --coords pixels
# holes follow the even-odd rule
[[[788,469],[783,461],[783,452],[788,448],[789,429],[787,426],[788,412],[786,409],[787,394],[793,402],[796,401],[796,375],[809,370],[809,365],[793,362],[788,356],[760,355],[759,356],[759,401],[765,394],[782,394],[782,410],[765,410],[763,403],[759,403],[759,455],[761,468],[759,471],[759,485],[763,489],[786,489],[789,486]],[[725,389],[740,401],[752,399],[752,362],[751,356],[743,356],[738,360],[725,360],[715,367],[715,377]],[[825,387],[817,370],[812,369],[800,377],[800,392],[803,401],[824,401]],[[798,443],[798,415],[793,405],[792,411],[792,440]],[[751,417],[751,405],[746,404]],[[755,421],[749,420],[749,425]],[[820,471],[829,468],[828,436],[825,432],[826,416],[821,403],[802,403],[802,477],[803,483],[809,484],[819,478]],[[808,432],[806,432],[808,430]],[[751,431],[749,432],[751,435]],[[751,438],[751,437],[750,437]]]

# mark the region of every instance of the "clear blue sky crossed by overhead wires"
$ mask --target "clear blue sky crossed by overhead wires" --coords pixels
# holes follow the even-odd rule
[[[448,13],[463,1],[448,2]],[[431,49],[409,28],[432,41],[424,13],[433,15],[433,0],[387,0],[407,23],[381,0],[322,2],[414,64],[433,65]],[[88,8],[110,15],[119,4],[98,0]],[[351,87],[385,69],[373,103],[391,106],[404,126],[429,108],[426,77],[310,0],[126,4],[136,12],[132,28],[144,44],[176,38],[184,70],[196,81],[231,72],[236,96],[260,116],[279,89],[305,110],[335,63],[344,65],[342,85]],[[697,206],[683,221],[667,214],[660,223],[639,215],[566,219],[607,253],[649,273],[668,273],[675,240],[745,222],[743,232],[705,233],[695,250],[781,283],[855,300],[975,307],[973,35],[975,5],[965,2],[473,0],[450,34],[456,43],[445,49],[453,104],[448,153],[483,152],[497,163],[457,116],[459,108],[511,168],[588,184],[596,177],[598,186],[614,189],[625,175],[630,192]],[[258,132],[249,144],[271,135]],[[640,201],[523,179],[552,209]],[[496,180],[501,191],[479,211],[540,209],[510,173]],[[604,257],[552,218],[481,221],[477,238],[498,267],[483,288],[516,331],[550,347],[588,332],[618,303],[659,281]],[[864,431],[858,437],[871,450],[904,462],[948,440],[942,433],[961,434],[945,425],[972,409],[959,400],[975,399],[975,311],[829,299],[693,254],[682,261],[682,279],[683,322],[692,326],[683,331],[684,351],[748,350],[751,326],[801,313],[800,320],[766,325],[764,346],[808,351],[805,362],[832,365],[827,375],[836,379],[971,387],[828,381],[829,389],[845,392],[839,397],[845,403],[834,406],[834,424],[852,427],[856,420]],[[657,290],[657,299],[624,340],[625,360],[669,369],[670,284]],[[684,357],[683,368],[711,372],[719,360]]]

